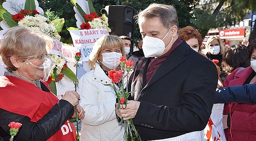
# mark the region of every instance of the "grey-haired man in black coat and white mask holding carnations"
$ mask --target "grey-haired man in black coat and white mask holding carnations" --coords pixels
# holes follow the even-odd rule
[[[215,98],[215,65],[179,38],[173,6],[151,4],[137,22],[145,57],[137,61],[129,81],[132,100],[116,109],[117,115],[134,118],[145,141],[203,130]]]

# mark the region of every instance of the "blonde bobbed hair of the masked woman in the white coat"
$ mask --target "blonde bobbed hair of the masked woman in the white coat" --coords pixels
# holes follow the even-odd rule
[[[93,50],[90,53],[88,65],[91,67],[91,69],[95,69],[98,55],[102,50],[104,50],[107,47],[121,47],[122,56],[125,56],[124,42],[119,36],[102,36],[95,42],[95,44],[93,45]]]

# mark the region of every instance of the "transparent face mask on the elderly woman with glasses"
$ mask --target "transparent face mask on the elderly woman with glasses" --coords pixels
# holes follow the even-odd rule
[[[44,69],[44,76],[43,76],[43,81],[47,81],[51,72],[52,72],[52,69],[53,69],[53,62],[52,60],[49,58],[49,57],[46,57],[45,58],[45,61],[42,65],[40,66],[37,66],[37,65],[34,65],[33,63],[31,63],[30,61],[28,61],[26,63],[26,65],[28,65],[28,63],[30,63],[31,65],[33,65],[34,67],[37,67],[39,69]]]

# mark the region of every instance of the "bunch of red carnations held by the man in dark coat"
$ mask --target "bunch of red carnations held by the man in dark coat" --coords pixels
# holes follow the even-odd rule
[[[133,61],[132,60],[126,60],[124,56],[121,56],[120,58],[120,67],[121,69],[117,71],[116,69],[108,71],[108,77],[111,79],[112,84],[105,84],[108,86],[113,87],[115,90],[115,94],[118,99],[118,107],[120,105],[126,105],[128,104],[128,97],[130,93],[128,92],[128,79],[129,79],[129,72],[132,70]],[[116,87],[117,85],[117,87]],[[126,89],[125,89],[126,88]],[[139,133],[135,129],[133,119],[123,120],[123,117],[121,118],[121,124],[124,123],[125,132],[124,132],[124,138],[126,141],[141,141],[141,137],[139,136]]]

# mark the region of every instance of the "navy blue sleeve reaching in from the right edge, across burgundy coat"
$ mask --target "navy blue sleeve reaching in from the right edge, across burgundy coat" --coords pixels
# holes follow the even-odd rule
[[[256,84],[237,85],[216,89],[214,103],[256,104]]]

